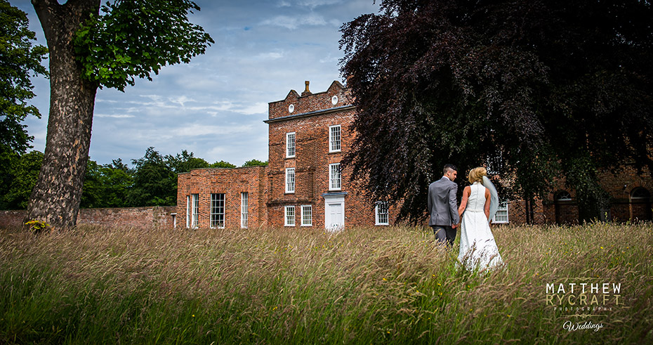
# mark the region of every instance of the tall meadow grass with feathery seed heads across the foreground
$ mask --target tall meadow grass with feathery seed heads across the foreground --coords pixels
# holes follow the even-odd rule
[[[0,343],[653,342],[653,225],[493,231],[506,265],[484,273],[423,227],[4,229]],[[621,283],[619,300],[548,304],[568,282]]]

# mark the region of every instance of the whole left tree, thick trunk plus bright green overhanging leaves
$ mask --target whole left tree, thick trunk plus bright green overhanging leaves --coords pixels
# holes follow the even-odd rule
[[[161,67],[188,63],[213,39],[193,25],[189,0],[32,0],[46,37],[50,112],[44,161],[27,220],[55,228],[77,223],[93,106],[98,87],[124,91],[134,77],[151,80]]]

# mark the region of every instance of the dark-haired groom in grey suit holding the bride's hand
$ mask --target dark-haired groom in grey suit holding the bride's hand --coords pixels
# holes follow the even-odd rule
[[[444,176],[428,186],[428,225],[433,228],[435,238],[448,246],[454,245],[456,227],[460,223],[456,193],[458,185],[454,182],[458,169],[452,164],[444,166]]]

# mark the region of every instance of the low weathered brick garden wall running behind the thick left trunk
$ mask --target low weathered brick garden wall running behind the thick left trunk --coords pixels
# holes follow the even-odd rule
[[[176,206],[80,209],[77,224],[132,228],[172,228]],[[21,226],[25,210],[0,211],[0,227]],[[179,224],[179,223],[178,223]]]

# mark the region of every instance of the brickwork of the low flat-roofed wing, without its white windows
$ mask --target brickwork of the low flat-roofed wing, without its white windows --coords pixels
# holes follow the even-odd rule
[[[186,226],[186,197],[199,194],[199,227],[209,228],[211,193],[225,193],[225,227],[240,228],[241,193],[248,193],[248,227],[266,226],[265,176],[267,167],[234,169],[194,169],[179,174],[177,186],[177,226]]]

